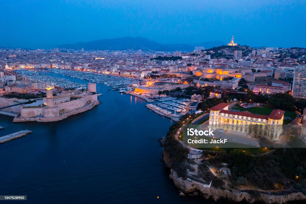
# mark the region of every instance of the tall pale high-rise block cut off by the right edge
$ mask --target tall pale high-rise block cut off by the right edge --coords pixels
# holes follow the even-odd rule
[[[306,99],[306,67],[305,66],[300,66],[294,69],[292,96],[293,98]]]

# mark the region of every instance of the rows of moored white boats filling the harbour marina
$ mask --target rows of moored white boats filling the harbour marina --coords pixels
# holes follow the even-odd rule
[[[106,91],[118,91],[119,93],[126,93],[132,96],[141,98],[148,103],[153,103],[153,106],[147,106],[150,110],[153,109],[155,113],[166,116],[170,119],[173,114],[177,117],[185,115],[187,106],[191,103],[188,98],[178,98],[167,96],[163,94],[145,94],[135,92],[136,87],[145,87],[147,79],[130,78],[114,76],[109,74],[91,72],[91,71],[76,71],[76,70],[63,70],[63,69],[49,69],[49,70],[15,70],[17,74],[27,77],[31,81],[46,81],[48,86],[58,86],[65,89],[75,88],[84,89],[87,87],[82,81],[90,81],[106,86]],[[49,74],[47,74],[49,73]],[[67,76],[67,77],[60,77]],[[78,80],[73,80],[73,78]],[[161,79],[158,83],[172,83],[174,79]],[[150,82],[151,83],[151,82]],[[98,91],[98,90],[97,90]],[[100,93],[100,90],[98,91]],[[188,110],[188,109],[187,109]],[[176,118],[174,119],[176,120]]]

